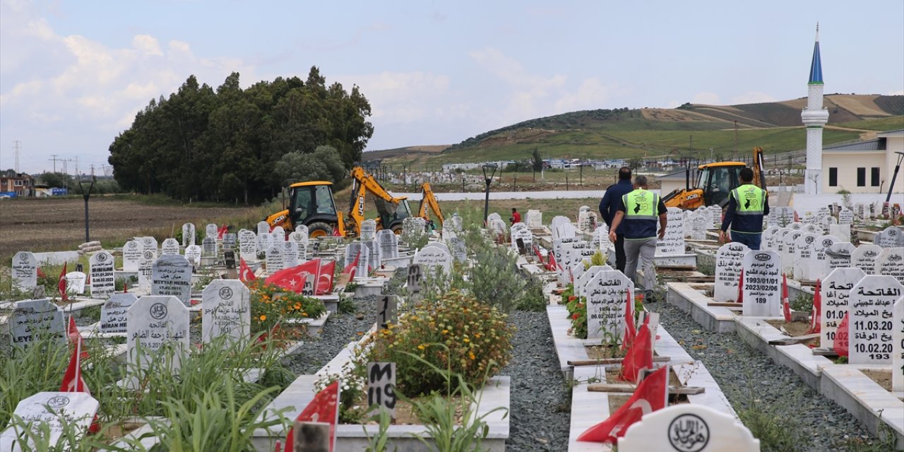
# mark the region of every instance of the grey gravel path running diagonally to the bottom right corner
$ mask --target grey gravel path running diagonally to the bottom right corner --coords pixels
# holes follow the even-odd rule
[[[666,303],[646,308],[659,313],[665,329],[706,365],[739,414],[756,405],[764,419],[778,420],[776,429],[791,432],[795,444],[783,451],[863,450],[864,443],[874,440],[842,407],[811,390],[794,372],[749,348],[737,335],[703,330],[681,309]]]

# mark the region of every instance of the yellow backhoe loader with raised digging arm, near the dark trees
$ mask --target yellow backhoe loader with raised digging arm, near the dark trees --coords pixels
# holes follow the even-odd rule
[[[364,200],[370,192],[377,196],[375,204],[380,213],[377,229],[400,233],[402,221],[411,215],[408,199],[392,196],[360,166],[352,169],[352,178],[352,199],[345,216],[336,210],[333,183],[312,181],[289,185],[288,208],[268,216],[265,221],[271,229],[282,226],[286,231],[293,231],[297,225],[304,224],[312,238],[330,235],[346,237],[350,233],[360,235],[361,223],[365,220]]]

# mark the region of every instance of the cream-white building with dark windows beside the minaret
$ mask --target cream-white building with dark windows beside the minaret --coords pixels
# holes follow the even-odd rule
[[[904,153],[904,129],[880,132],[871,140],[825,146],[822,158],[825,174],[820,192],[889,193],[901,153]],[[901,172],[892,193],[904,193]],[[892,202],[901,201],[900,197],[892,199]]]

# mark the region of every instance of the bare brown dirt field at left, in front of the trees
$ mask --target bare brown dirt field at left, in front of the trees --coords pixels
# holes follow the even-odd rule
[[[218,218],[241,217],[255,208],[157,206],[121,199],[92,197],[89,204],[90,237],[105,246],[128,237],[171,237],[192,221],[198,231]],[[250,225],[243,225],[245,227]],[[20,250],[78,250],[85,241],[85,202],[51,198],[0,200],[0,266]]]

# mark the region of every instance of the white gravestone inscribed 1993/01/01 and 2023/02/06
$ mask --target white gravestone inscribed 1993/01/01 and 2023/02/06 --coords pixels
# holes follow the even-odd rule
[[[744,255],[743,314],[776,317],[781,309],[781,259],[775,251],[749,251]]]

